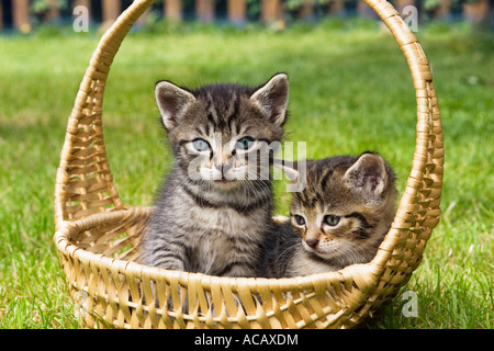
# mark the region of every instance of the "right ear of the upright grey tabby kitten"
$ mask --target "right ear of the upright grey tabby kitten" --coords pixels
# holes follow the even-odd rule
[[[289,81],[285,73],[278,73],[251,95],[252,101],[271,123],[282,125],[287,120]]]

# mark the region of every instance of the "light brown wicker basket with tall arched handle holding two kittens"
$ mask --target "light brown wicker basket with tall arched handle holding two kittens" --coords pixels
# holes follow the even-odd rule
[[[338,272],[292,279],[233,279],[135,262],[151,207],[124,205],[103,143],[102,100],[120,44],[154,2],[136,0],[99,43],[67,126],[55,190],[58,251],[89,328],[350,328],[385,306],[418,267],[439,220],[444,147],[428,60],[384,0],[364,0],[408,63],[417,101],[416,148],[396,216],[375,258]],[[188,313],[182,305],[188,298]],[[167,301],[172,302],[168,306]]]

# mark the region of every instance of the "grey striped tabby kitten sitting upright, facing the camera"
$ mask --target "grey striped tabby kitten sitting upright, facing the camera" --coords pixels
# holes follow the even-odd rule
[[[259,160],[247,159],[262,145],[280,141],[288,97],[284,73],[257,89],[156,84],[176,162],[144,236],[144,264],[256,274],[260,245],[272,233],[272,190],[269,173],[260,177]]]

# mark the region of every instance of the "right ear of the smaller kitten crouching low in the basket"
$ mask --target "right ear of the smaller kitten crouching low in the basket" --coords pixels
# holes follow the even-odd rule
[[[372,152],[362,154],[345,173],[347,186],[368,201],[378,201],[389,183],[384,159]]]

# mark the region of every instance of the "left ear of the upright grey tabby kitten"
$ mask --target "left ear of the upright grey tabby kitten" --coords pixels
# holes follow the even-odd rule
[[[187,107],[195,101],[192,93],[169,81],[158,81],[155,87],[156,102],[167,131],[175,128]]]

